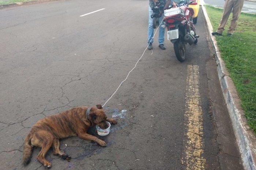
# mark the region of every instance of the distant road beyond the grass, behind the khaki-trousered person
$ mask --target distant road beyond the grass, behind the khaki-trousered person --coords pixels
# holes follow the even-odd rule
[[[213,5],[218,8],[223,8],[225,1],[224,0],[204,0],[206,4]],[[242,12],[247,13],[256,13],[256,3],[244,1],[244,6],[242,8]]]

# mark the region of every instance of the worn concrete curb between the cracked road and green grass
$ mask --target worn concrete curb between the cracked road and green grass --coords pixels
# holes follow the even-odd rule
[[[225,63],[221,58],[220,51],[217,46],[217,41],[214,36],[212,24],[208,18],[205,7],[202,5],[205,22],[207,24],[209,38],[212,47],[215,51],[215,61],[217,72],[222,89],[223,97],[226,102],[230,120],[234,130],[238,150],[240,152],[242,165],[246,170],[256,169],[256,136],[248,126],[244,111],[241,108],[241,101],[235,89],[234,83],[229,77],[229,72],[226,69]]]

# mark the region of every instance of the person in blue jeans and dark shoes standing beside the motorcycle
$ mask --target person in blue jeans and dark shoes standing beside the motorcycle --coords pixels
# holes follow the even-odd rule
[[[148,49],[152,50],[152,43],[153,43],[153,36],[154,36],[154,28],[153,28],[153,18],[151,18],[151,15],[153,14],[153,10],[152,8],[155,7],[155,3],[158,0],[149,0],[149,18],[148,18]],[[166,0],[164,0],[166,3]],[[165,50],[166,47],[164,46],[164,32],[165,32],[165,27],[161,27],[161,24],[163,24],[162,20],[164,18],[164,13],[160,12],[159,14],[159,34],[158,34],[158,43],[159,43],[159,47],[162,50]],[[162,23],[161,23],[162,22]]]

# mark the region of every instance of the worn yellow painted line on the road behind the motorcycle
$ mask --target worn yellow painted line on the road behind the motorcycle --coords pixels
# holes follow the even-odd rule
[[[203,114],[200,106],[199,94],[199,66],[188,65],[186,79],[186,138],[182,157],[182,164],[187,170],[201,170],[205,168],[203,138]]]

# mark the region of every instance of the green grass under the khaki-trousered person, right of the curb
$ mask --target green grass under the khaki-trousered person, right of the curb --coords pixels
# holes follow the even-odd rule
[[[205,6],[214,31],[222,9]],[[233,37],[227,36],[232,14],[223,36],[216,36],[219,50],[230,73],[245,111],[249,126],[256,134],[256,15],[241,13]]]

